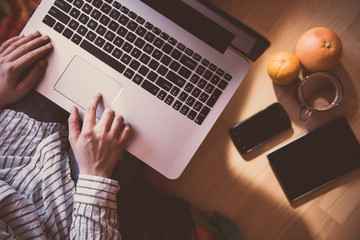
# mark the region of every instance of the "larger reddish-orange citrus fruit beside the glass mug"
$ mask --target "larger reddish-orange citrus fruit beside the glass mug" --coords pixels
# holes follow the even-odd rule
[[[296,44],[296,56],[310,72],[328,71],[341,58],[343,46],[338,35],[325,27],[306,31]]]

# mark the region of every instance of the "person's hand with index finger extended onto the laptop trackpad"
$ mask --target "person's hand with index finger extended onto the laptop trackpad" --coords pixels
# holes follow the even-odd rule
[[[110,178],[130,135],[131,126],[106,109],[96,122],[96,108],[101,94],[93,96],[80,130],[79,111],[74,106],[69,117],[69,141],[81,174]]]

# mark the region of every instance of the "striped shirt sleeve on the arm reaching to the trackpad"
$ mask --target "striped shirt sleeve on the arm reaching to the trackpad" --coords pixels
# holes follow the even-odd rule
[[[71,239],[121,239],[114,180],[79,175],[74,195]]]

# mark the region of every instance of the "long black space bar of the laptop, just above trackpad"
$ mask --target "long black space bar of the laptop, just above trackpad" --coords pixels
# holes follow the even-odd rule
[[[101,61],[105,62],[107,65],[118,71],[119,73],[123,73],[125,70],[125,65],[115,60],[105,52],[101,51],[99,48],[95,47],[93,44],[88,42],[87,40],[83,40],[80,44],[80,47],[88,51],[90,54],[94,55]]]

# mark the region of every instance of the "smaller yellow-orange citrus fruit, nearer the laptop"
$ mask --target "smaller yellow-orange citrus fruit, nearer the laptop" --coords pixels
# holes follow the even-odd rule
[[[278,52],[270,58],[267,71],[274,83],[289,84],[299,77],[300,62],[291,52]]]

